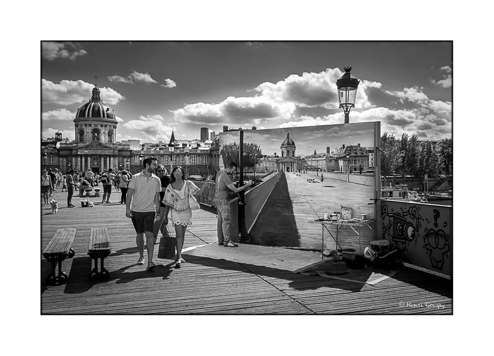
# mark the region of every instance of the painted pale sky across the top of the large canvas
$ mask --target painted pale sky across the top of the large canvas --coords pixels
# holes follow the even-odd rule
[[[281,156],[281,143],[290,134],[290,139],[295,143],[295,156],[326,153],[341,148],[344,144],[362,147],[373,147],[374,125],[372,123],[350,123],[336,125],[303,126],[280,129],[249,130],[244,132],[244,142],[257,143],[262,154]],[[239,143],[239,131],[220,133],[220,146],[225,143]],[[221,163],[221,159],[220,159]]]

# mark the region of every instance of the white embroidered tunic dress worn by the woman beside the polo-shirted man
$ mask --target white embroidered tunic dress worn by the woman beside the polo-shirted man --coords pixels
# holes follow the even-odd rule
[[[189,193],[196,194],[200,189],[190,180],[185,180],[180,190],[173,189],[171,184],[165,191],[163,204],[170,207],[171,224],[183,226],[192,224],[192,210],[189,206]]]

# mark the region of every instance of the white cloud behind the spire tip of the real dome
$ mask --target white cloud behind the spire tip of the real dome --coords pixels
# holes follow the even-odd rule
[[[61,80],[56,84],[46,79],[41,79],[41,95],[43,103],[55,103],[59,105],[71,105],[84,103],[91,99],[93,84],[82,80]],[[99,88],[103,102],[108,105],[115,105],[124,96],[112,88]]]

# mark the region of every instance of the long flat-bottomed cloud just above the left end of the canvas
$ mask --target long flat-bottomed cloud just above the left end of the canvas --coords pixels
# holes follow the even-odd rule
[[[269,98],[228,97],[219,104],[196,103],[171,110],[176,120],[197,124],[258,124],[273,119],[288,119],[295,111],[292,103],[279,103]]]

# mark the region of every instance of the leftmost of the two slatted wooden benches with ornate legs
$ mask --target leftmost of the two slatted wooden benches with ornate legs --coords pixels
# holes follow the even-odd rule
[[[62,261],[72,258],[76,252],[72,249],[72,243],[76,237],[76,229],[58,229],[50,243],[43,250],[43,257],[51,263],[51,273],[46,278],[47,285],[57,283],[64,285],[69,281],[69,276],[62,271]],[[58,263],[58,275],[55,276],[55,267]]]

